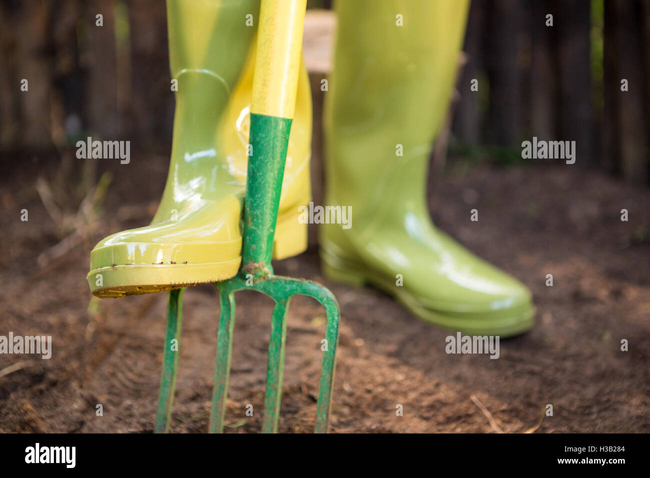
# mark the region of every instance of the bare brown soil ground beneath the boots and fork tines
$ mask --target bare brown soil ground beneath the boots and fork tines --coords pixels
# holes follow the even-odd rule
[[[134,155],[128,174],[110,166],[99,228],[45,265],[38,254],[60,237],[33,185],[59,160],[3,163],[0,335],[51,335],[53,354],[0,356],[0,431],[153,431],[166,295],[105,299],[89,312],[86,272],[101,237],[148,223],[168,159]],[[531,287],[536,325],[501,341],[499,360],[446,354],[445,330],[374,289],[324,280],[315,248],[277,263],[279,274],[324,282],[341,304],[331,431],[650,432],[650,191],[578,166],[461,162],[434,189],[436,224]],[[473,208],[478,222],[469,220]],[[188,289],[184,305],[172,431],[205,432],[214,287]],[[237,296],[228,432],[260,428],[271,305],[257,293]],[[320,306],[292,300],[281,432],[313,430],[323,332]],[[629,351],[621,351],[621,339]],[[98,404],[103,416],[96,416]],[[246,417],[247,404],[253,417]],[[396,416],[398,404],[403,416]],[[553,415],[541,420],[547,404]]]

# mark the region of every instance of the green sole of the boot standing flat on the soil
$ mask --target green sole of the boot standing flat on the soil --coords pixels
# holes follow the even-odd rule
[[[379,272],[374,272],[359,262],[341,259],[322,248],[320,259],[323,274],[328,280],[353,287],[373,285],[395,297],[415,316],[447,330],[507,338],[523,334],[534,324],[535,308],[530,303],[506,309],[502,313],[493,310],[486,310],[485,313],[433,310],[424,306],[423,301],[404,286],[399,287],[392,280],[385,280]]]

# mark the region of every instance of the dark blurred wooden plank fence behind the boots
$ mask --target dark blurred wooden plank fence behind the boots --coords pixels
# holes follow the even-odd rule
[[[169,151],[161,1],[3,0],[0,32],[3,155],[126,135],[141,151]],[[462,94],[438,155],[449,146],[469,161],[508,163],[521,161],[532,136],[575,140],[578,164],[648,183],[650,0],[476,0],[463,50]],[[9,85],[23,78],[38,81],[14,94]],[[469,94],[471,79],[478,94]]]

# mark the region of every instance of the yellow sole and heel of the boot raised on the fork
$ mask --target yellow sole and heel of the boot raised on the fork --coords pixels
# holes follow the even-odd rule
[[[201,244],[204,247],[205,243]],[[220,243],[214,243],[218,248]],[[184,244],[185,250],[191,245]],[[295,215],[278,217],[273,241],[273,259],[297,256],[307,250],[307,224]],[[124,297],[170,291],[190,285],[211,284],[234,277],[241,256],[206,263],[125,264],[99,267],[86,279],[96,297]]]

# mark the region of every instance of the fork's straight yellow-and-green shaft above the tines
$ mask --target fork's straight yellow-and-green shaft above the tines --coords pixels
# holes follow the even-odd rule
[[[250,107],[242,274],[270,274],[302,48],[306,0],[262,0]]]

